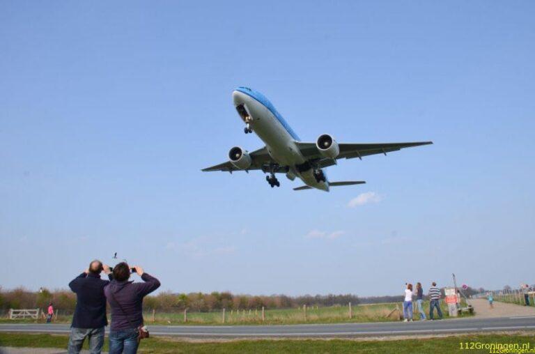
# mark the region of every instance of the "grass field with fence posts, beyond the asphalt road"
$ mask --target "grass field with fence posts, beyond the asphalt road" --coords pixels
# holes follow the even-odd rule
[[[416,302],[414,302],[416,305]],[[397,308],[403,311],[403,306],[397,304]],[[180,312],[155,312],[153,321],[152,311],[144,313],[145,322],[160,325],[289,325],[298,323],[348,323],[348,322],[385,322],[398,321],[398,312],[396,303],[391,304],[373,304],[359,305],[352,307],[352,318],[349,318],[348,306],[333,307],[307,307],[305,311],[300,309],[270,309],[265,310],[265,321],[262,321],[261,309],[240,309],[239,311],[226,311],[225,323],[223,323],[222,311],[217,312],[188,312],[187,321],[184,321],[184,313]],[[424,311],[426,316],[429,311],[429,302],[424,302]],[[447,315],[447,307],[442,302],[442,313]],[[72,316],[62,316],[61,310],[56,323],[70,323]],[[403,317],[403,313],[401,313]],[[435,316],[437,316],[435,314]],[[465,315],[463,315],[465,316]],[[418,311],[414,309],[414,320],[419,320]],[[10,322],[10,320],[1,320],[0,322]],[[20,322],[35,323],[35,320],[20,320]],[[39,322],[44,322],[40,319]]]

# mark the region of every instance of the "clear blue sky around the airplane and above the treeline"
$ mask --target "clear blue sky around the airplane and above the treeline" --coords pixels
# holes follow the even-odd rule
[[[535,283],[534,13],[0,1],[0,285],[65,288],[114,252],[180,292]],[[201,173],[262,146],[232,105],[241,85],[307,141],[435,144],[343,160],[331,180],[368,184],[330,193]]]

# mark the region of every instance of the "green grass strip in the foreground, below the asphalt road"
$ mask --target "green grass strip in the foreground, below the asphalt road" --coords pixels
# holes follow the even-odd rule
[[[488,350],[460,350],[460,343],[502,343],[535,346],[535,336],[527,334],[481,334],[429,339],[350,340],[274,339],[188,342],[171,338],[141,341],[139,353],[489,353]],[[54,334],[0,333],[0,346],[66,348],[68,336]],[[106,340],[104,351],[108,350]]]

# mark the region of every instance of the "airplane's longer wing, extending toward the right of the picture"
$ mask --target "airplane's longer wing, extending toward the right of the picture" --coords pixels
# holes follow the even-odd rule
[[[300,148],[301,153],[307,160],[320,160],[320,167],[328,167],[335,164],[332,159],[325,159],[316,148],[316,143],[306,143],[297,141],[297,146]],[[338,144],[340,153],[336,157],[336,160],[346,158],[352,159],[359,157],[362,160],[363,156],[375,155],[375,154],[387,154],[392,151],[398,151],[402,148],[412,148],[413,146],[421,146],[433,144],[433,141],[417,141],[412,143],[341,143]]]

